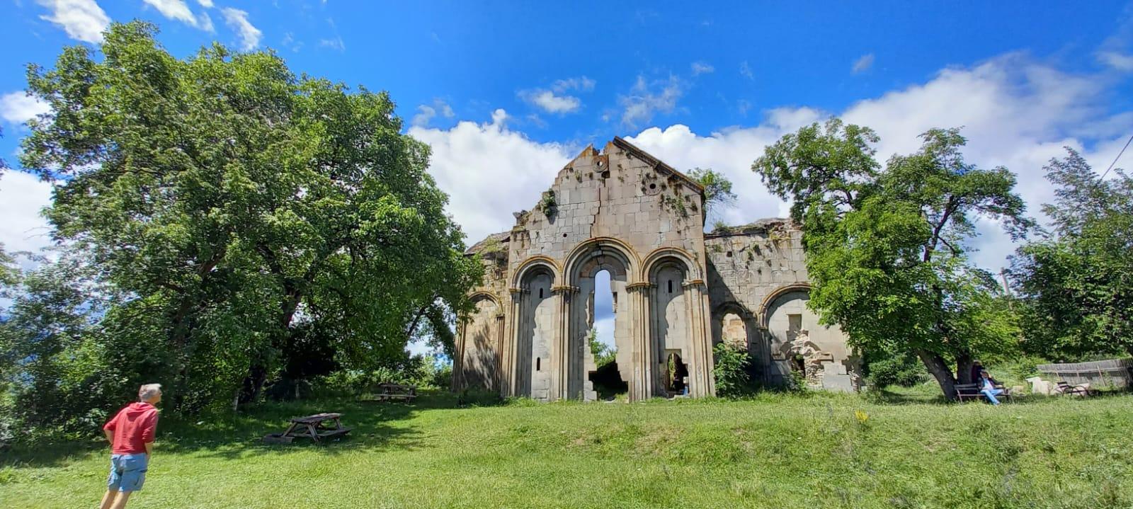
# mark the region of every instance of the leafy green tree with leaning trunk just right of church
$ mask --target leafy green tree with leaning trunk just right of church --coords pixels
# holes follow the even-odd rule
[[[920,150],[875,160],[877,135],[832,119],[768,146],[752,164],[793,201],[803,227],[809,305],[853,346],[917,355],[944,396],[968,382],[973,355],[1013,348],[1017,324],[995,278],[968,260],[974,220],[1014,236],[1030,221],[1006,168],[968,163],[957,129],[931,129]]]

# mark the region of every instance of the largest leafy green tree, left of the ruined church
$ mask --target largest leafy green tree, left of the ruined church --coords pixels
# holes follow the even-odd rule
[[[31,66],[51,113],[20,155],[56,183],[56,236],[122,296],[102,323],[114,351],[164,353],[137,376],[184,408],[255,399],[303,355],[297,326],[364,363],[459,309],[477,268],[385,93],[297,77],[272,52],[178,59],[154,34],[114,24],[101,59],[71,46]]]

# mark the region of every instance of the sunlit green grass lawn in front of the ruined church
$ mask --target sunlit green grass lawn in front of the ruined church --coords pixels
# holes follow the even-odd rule
[[[860,412],[858,412],[860,410]],[[290,416],[349,438],[266,446]],[[857,414],[855,414],[857,413]],[[264,406],[159,426],[130,508],[1133,507],[1133,396],[944,405],[909,397]],[[0,506],[95,507],[105,448],[0,451]]]

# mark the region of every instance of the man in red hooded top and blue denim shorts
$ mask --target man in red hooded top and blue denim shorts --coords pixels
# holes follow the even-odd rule
[[[122,509],[130,493],[142,490],[145,472],[153,452],[153,433],[157,430],[157,409],[161,384],[147,383],[138,389],[139,402],[118,410],[114,418],[102,426],[110,441],[110,478],[102,509]]]

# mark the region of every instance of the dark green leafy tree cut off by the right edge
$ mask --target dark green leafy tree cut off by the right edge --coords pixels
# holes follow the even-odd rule
[[[1046,166],[1043,238],[1019,249],[1026,349],[1056,359],[1133,355],[1133,178],[1099,178],[1072,149]]]

